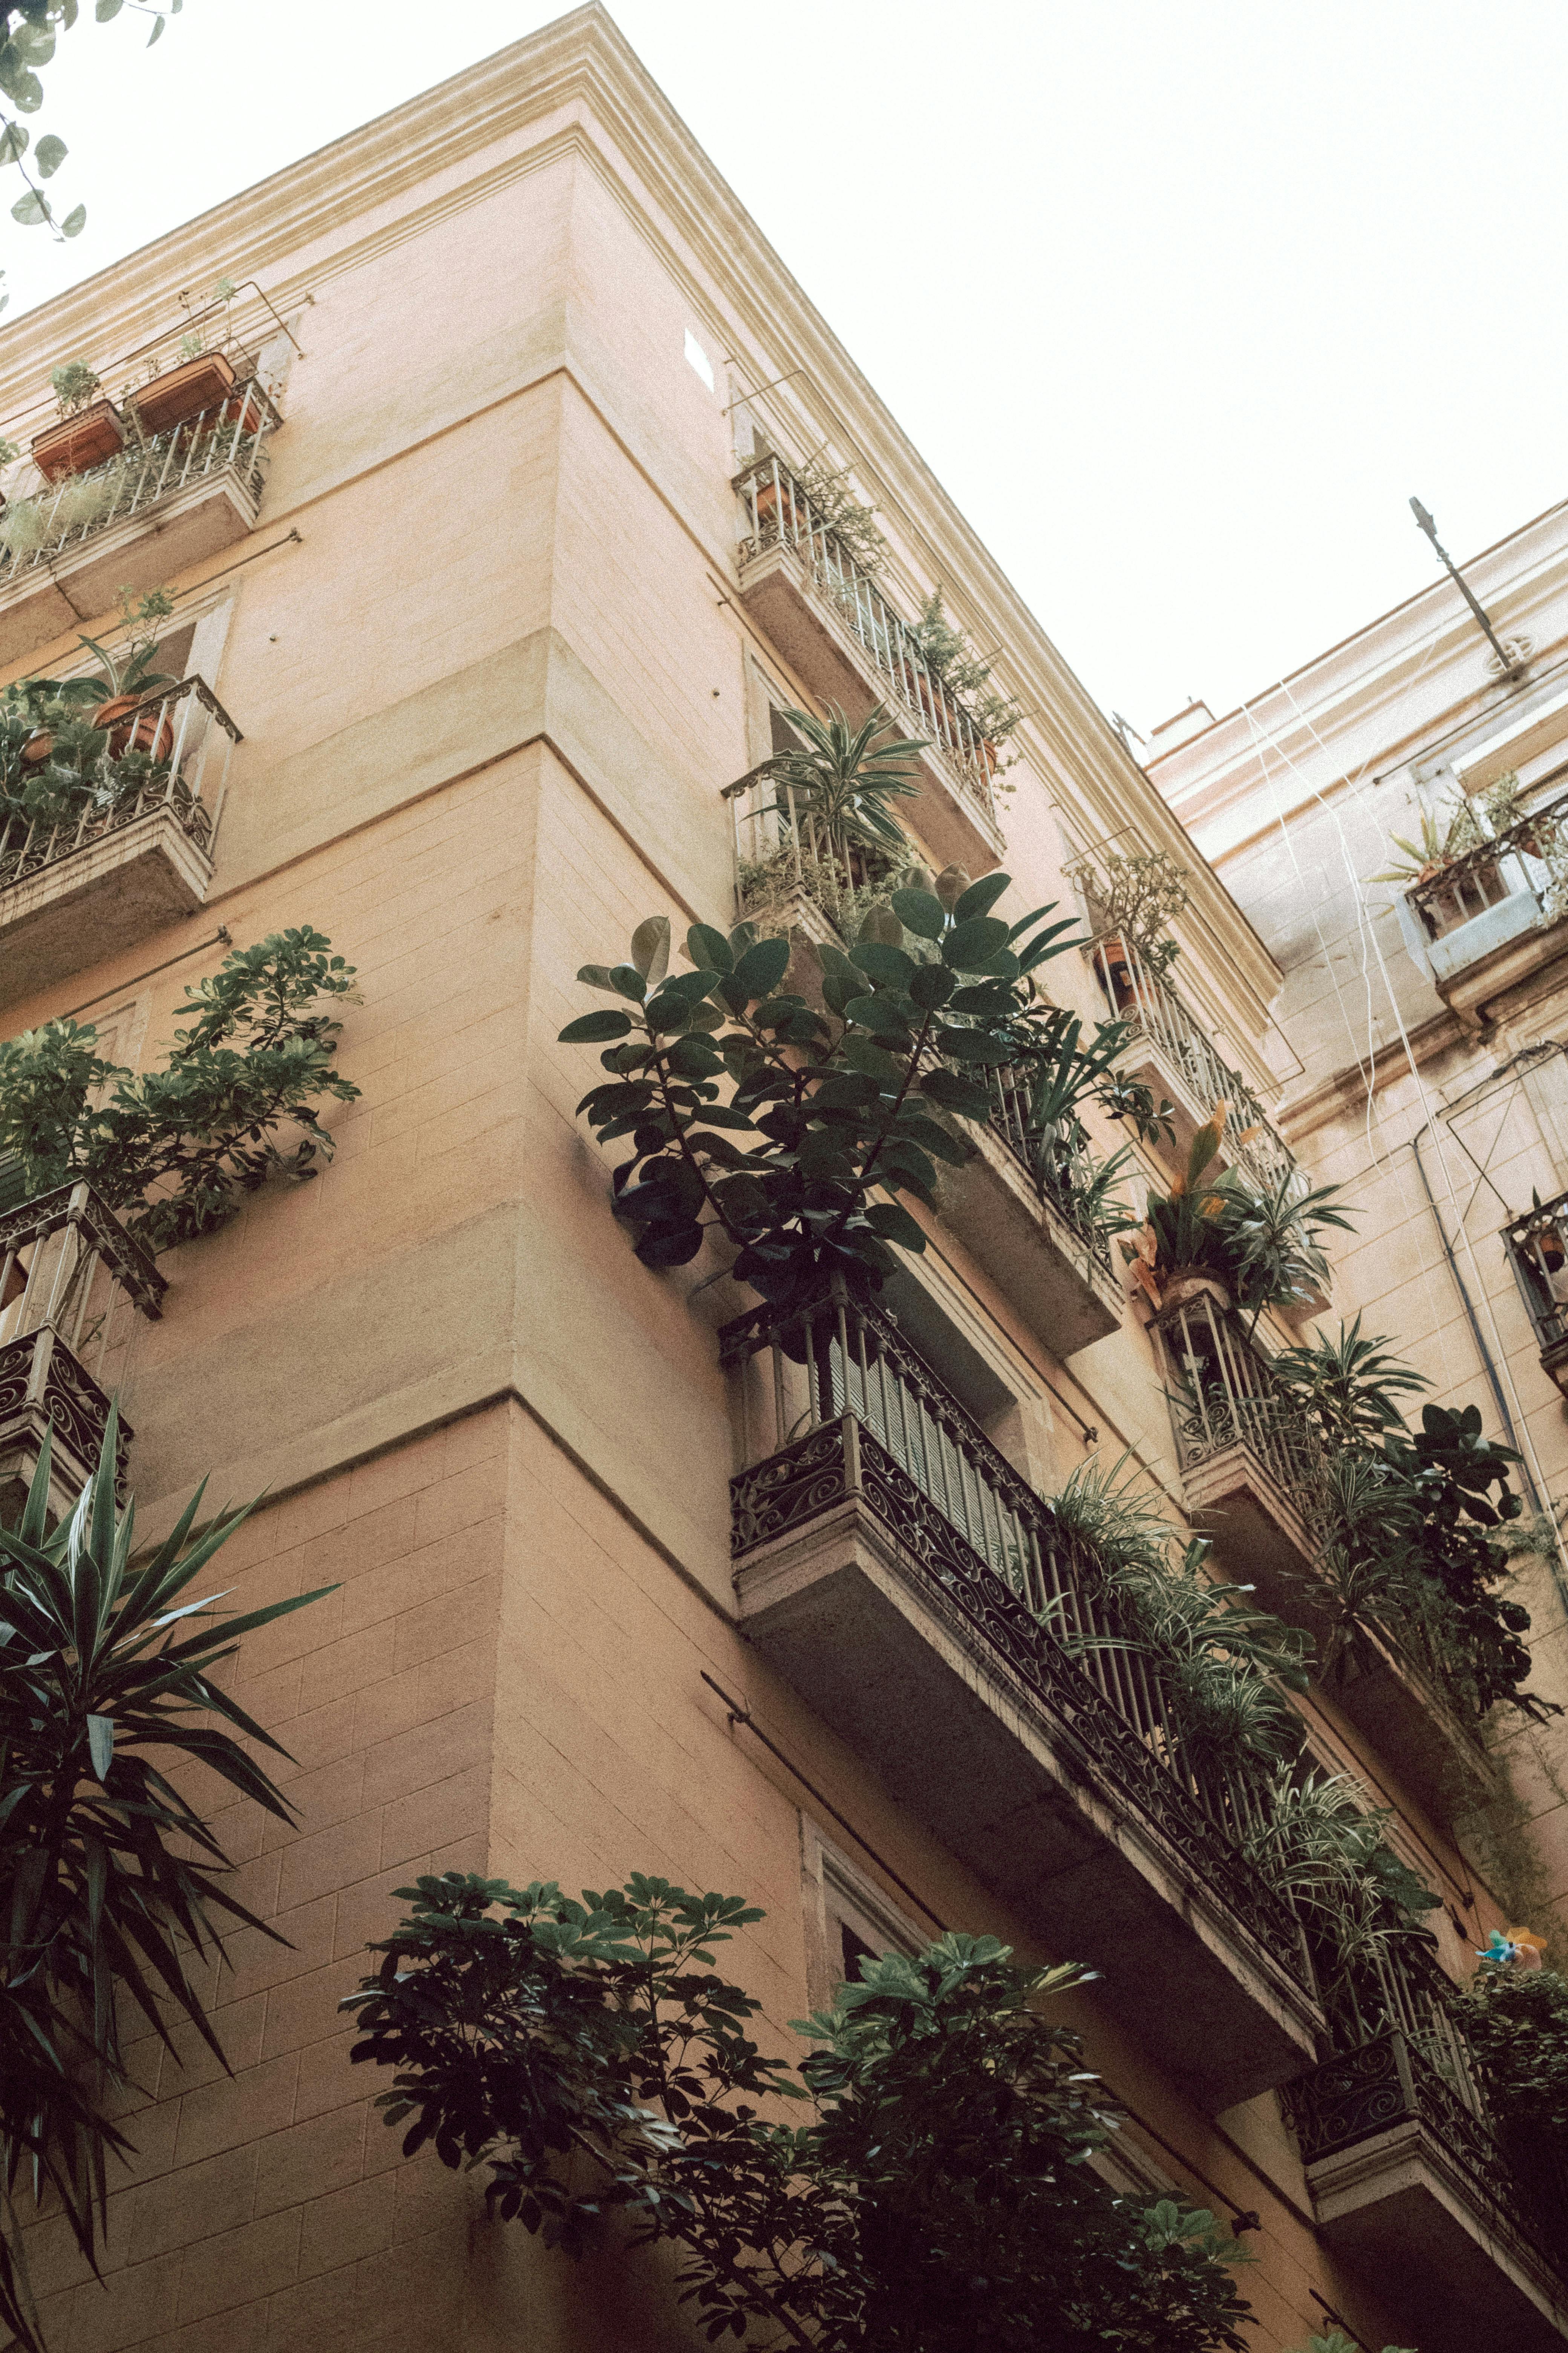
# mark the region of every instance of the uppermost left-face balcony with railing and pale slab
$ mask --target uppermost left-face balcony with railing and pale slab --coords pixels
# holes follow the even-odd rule
[[[16,494],[0,529],[0,664],[233,546],[256,522],[268,440],[282,424],[249,376],[162,433],[101,402],[127,438],[101,464]]]

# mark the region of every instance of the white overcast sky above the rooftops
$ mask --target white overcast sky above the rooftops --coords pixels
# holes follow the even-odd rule
[[[1267,687],[1566,494],[1563,0],[616,0],[1105,706]],[[186,0],[61,40],[12,318],[548,24]]]

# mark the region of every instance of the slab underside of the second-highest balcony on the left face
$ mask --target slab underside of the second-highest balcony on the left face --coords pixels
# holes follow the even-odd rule
[[[190,915],[209,882],[212,859],[169,807],[49,859],[0,889],[0,1005]]]

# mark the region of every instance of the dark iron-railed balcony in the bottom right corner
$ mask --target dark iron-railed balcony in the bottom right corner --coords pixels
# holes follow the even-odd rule
[[[1319,2238],[1422,2353],[1563,2353],[1568,2169],[1512,2160],[1443,1984],[1385,1972],[1373,2031],[1284,2094]]]

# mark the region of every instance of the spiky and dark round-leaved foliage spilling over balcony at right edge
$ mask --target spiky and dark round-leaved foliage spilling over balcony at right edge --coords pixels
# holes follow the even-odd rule
[[[1495,1706],[1544,1720],[1561,1713],[1523,1689],[1530,1612],[1500,1586],[1512,1558],[1500,1532],[1521,1518],[1512,1447],[1481,1435],[1481,1407],[1422,1405],[1410,1431],[1401,1398],[1429,1384],[1361,1334],[1274,1358],[1295,1421],[1324,1449],[1319,1581],[1333,1609],[1326,1673],[1342,1673],[1368,1633],[1427,1638],[1429,1657],[1469,1720]]]

